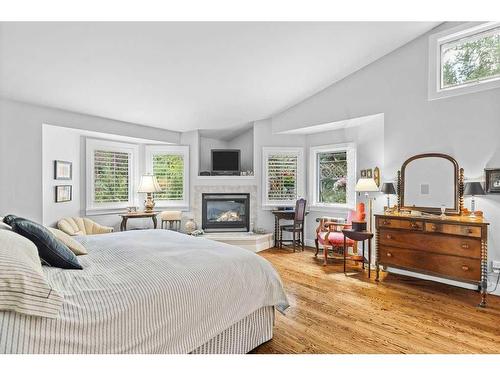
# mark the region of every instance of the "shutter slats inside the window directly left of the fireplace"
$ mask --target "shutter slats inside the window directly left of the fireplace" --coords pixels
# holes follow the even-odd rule
[[[162,188],[162,192],[154,194],[155,199],[184,199],[184,158],[182,155],[153,155],[153,174]]]

